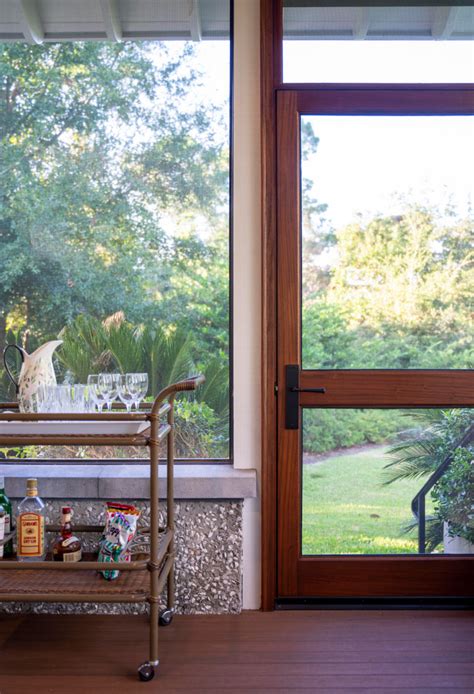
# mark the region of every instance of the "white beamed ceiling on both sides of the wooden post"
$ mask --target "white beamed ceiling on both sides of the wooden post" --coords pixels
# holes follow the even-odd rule
[[[230,0],[0,0],[0,41],[223,39],[229,36],[229,4]],[[316,0],[284,4],[286,39],[474,37],[472,5],[324,7]]]

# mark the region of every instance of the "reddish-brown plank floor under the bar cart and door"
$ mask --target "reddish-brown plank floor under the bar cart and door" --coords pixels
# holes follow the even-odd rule
[[[139,683],[147,634],[144,617],[0,615],[0,692],[474,692],[469,612],[175,617]]]

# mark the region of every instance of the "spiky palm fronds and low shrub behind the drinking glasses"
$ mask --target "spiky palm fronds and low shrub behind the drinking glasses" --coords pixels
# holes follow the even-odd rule
[[[57,354],[63,371],[81,383],[88,374],[100,371],[146,372],[149,395],[155,396],[170,383],[202,371],[206,381],[195,400],[179,399],[179,454],[228,455],[228,368],[217,358],[211,357],[206,363],[202,355],[198,367],[196,346],[189,333],[169,326],[133,325],[119,313],[105,321],[78,316],[61,331],[60,338],[64,342]]]

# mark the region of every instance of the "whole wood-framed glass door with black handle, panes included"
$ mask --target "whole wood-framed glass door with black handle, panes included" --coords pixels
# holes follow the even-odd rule
[[[280,597],[474,592],[472,107],[278,93]]]

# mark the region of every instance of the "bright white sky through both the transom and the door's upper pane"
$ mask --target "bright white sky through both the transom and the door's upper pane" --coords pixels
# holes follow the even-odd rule
[[[285,41],[286,81],[474,82],[472,41]],[[462,214],[474,203],[474,117],[309,118],[319,137],[304,165],[337,227],[384,212],[400,196]]]

